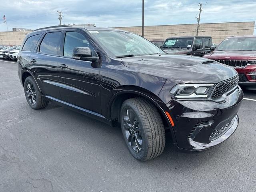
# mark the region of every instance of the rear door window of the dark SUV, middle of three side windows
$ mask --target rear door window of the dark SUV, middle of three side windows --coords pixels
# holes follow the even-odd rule
[[[39,52],[43,54],[58,55],[60,47],[61,32],[46,33],[39,48]]]

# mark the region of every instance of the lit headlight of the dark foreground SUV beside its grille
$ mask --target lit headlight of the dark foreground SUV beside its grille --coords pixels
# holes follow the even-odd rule
[[[214,84],[178,84],[170,90],[175,98],[207,98]]]

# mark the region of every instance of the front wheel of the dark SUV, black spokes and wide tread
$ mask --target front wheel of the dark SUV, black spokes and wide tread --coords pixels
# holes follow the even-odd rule
[[[120,123],[126,146],[134,158],[146,161],[162,154],[164,124],[153,104],[143,98],[125,100],[120,110]]]

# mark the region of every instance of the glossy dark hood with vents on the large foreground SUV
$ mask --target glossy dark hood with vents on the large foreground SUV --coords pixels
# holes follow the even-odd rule
[[[134,70],[185,83],[218,83],[237,75],[232,67],[189,55],[146,55],[122,58]],[[208,62],[208,64],[203,64]]]

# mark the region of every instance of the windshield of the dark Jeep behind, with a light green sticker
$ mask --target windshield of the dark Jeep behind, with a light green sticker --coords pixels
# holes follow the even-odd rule
[[[191,48],[194,38],[169,38],[162,48]]]

